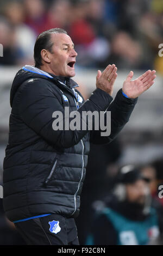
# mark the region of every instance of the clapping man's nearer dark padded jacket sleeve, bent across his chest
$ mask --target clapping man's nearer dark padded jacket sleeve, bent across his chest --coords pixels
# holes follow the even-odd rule
[[[82,118],[83,111],[104,111],[111,103],[112,97],[101,89],[96,89],[90,98],[77,110]],[[64,107],[52,91],[48,83],[41,80],[27,82],[20,94],[19,114],[21,119],[49,143],[60,148],[70,148],[78,144],[86,130],[53,130],[53,112],[60,111],[62,119],[60,122],[65,127]],[[82,121],[82,120],[81,120]],[[89,123],[86,124],[89,126]]]

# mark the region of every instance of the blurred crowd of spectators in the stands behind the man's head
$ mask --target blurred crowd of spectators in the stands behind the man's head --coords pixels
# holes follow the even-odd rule
[[[60,27],[73,39],[79,66],[162,72],[162,13],[161,0],[1,0],[0,63],[33,64],[36,36]]]

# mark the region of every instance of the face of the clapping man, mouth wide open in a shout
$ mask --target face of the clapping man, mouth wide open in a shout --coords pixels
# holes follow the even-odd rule
[[[52,53],[49,53],[51,70],[56,76],[73,77],[77,52],[74,50],[70,36],[64,33],[52,33],[51,39],[54,42]]]

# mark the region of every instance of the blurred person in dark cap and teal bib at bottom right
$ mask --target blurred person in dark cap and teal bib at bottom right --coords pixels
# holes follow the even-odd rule
[[[162,231],[162,215],[152,206],[150,180],[132,165],[122,167],[117,176],[113,193],[96,211],[86,244],[152,244]],[[97,209],[100,204],[94,205]]]

